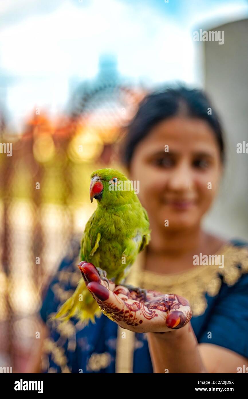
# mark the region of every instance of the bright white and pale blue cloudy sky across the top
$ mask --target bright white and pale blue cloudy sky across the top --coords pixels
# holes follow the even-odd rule
[[[102,53],[148,87],[201,85],[192,32],[247,15],[246,0],[1,0],[0,87],[13,128],[35,106],[62,112],[70,78],[94,78]]]

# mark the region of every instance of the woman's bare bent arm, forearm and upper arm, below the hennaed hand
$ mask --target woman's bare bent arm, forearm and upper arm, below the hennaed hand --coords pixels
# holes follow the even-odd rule
[[[164,334],[147,333],[154,373],[237,373],[248,359],[226,348],[198,344],[190,322]]]

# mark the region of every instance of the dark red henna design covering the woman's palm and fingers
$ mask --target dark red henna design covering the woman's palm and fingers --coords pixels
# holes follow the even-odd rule
[[[106,303],[109,290],[100,283],[101,279],[95,267],[84,264],[80,270],[102,312],[117,323],[124,322],[128,326],[137,327],[143,323],[142,319],[152,320],[158,317],[158,312],[160,312],[165,314],[164,326],[167,330],[182,328],[192,317],[189,302],[185,298],[153,290],[147,290],[144,298],[142,293],[135,290],[129,291],[119,285],[113,290],[116,294],[115,302]],[[182,310],[184,306],[187,308]]]

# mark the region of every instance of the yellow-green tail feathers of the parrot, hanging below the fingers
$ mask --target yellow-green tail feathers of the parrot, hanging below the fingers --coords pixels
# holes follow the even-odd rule
[[[101,314],[99,305],[88,291],[84,279],[80,279],[72,296],[64,302],[51,320],[61,318],[61,321],[65,321],[75,316],[80,321],[88,324],[90,320],[95,323],[94,316],[99,317]]]

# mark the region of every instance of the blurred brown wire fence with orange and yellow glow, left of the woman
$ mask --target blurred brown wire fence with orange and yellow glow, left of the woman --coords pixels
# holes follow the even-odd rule
[[[88,97],[81,95],[71,115],[57,121],[35,109],[19,138],[2,128],[1,142],[12,140],[12,156],[0,154],[3,366],[25,369],[39,331],[42,293],[71,241],[80,242],[95,209],[89,200],[90,174],[119,164],[114,148],[120,127],[142,96],[142,90],[119,86],[109,91],[103,85]]]

